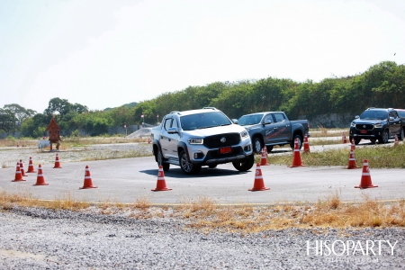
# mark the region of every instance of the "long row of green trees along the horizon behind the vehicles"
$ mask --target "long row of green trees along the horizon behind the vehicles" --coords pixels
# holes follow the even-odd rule
[[[305,115],[311,121],[320,114],[363,112],[367,107],[405,107],[405,66],[384,61],[355,76],[311,80],[267,77],[237,82],[214,82],[188,86],[140,103],[130,103],[104,111],[90,111],[85,105],[68,103],[58,97],[49,101],[43,113],[18,104],[0,109],[0,130],[20,130],[23,136],[41,137],[52,116],[67,135],[85,130],[101,135],[109,127],[157,123],[172,111],[213,106],[230,118],[252,112],[284,111],[291,119]],[[143,115],[143,117],[142,117]]]

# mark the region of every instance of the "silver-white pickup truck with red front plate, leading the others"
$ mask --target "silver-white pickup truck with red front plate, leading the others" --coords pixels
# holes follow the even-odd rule
[[[151,137],[157,164],[165,171],[172,164],[190,175],[201,166],[228,162],[238,171],[247,171],[255,163],[247,130],[215,108],[170,112],[152,129]]]

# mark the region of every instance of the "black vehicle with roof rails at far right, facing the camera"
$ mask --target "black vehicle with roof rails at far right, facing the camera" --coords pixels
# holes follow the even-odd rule
[[[361,139],[370,139],[373,143],[378,139],[379,143],[387,143],[388,139],[394,139],[397,135],[402,140],[404,124],[394,109],[368,108],[352,121],[349,139],[355,139],[356,144]]]

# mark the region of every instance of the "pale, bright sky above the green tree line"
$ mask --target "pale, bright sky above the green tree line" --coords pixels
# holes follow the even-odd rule
[[[405,1],[0,0],[0,107],[103,110],[215,81],[405,63]],[[394,55],[395,54],[395,55]]]

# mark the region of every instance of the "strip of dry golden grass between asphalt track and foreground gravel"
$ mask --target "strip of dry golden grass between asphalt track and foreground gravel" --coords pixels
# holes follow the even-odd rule
[[[82,211],[91,203],[76,201],[68,193],[53,201],[40,201],[27,193],[0,193],[0,210],[8,211],[15,205]],[[338,192],[318,202],[279,202],[268,206],[220,205],[208,197],[199,197],[175,206],[157,207],[148,197],[140,197],[130,204],[102,202],[94,207],[103,214],[129,212],[128,217],[133,219],[170,217],[185,220],[186,228],[205,233],[211,230],[255,233],[287,228],[405,227],[404,200],[377,202],[365,196],[362,202],[341,202]]]

